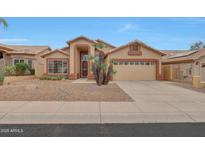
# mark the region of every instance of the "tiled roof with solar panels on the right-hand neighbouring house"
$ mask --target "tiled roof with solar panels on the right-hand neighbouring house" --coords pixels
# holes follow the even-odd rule
[[[177,53],[175,55],[167,56],[162,60],[162,62],[163,64],[192,62],[203,56],[205,56],[205,49],[198,49],[194,51],[187,51],[187,52],[182,52],[182,53]]]

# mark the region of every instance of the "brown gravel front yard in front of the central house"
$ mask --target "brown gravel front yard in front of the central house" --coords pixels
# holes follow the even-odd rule
[[[0,101],[133,101],[115,83],[72,83],[31,79],[0,86]]]

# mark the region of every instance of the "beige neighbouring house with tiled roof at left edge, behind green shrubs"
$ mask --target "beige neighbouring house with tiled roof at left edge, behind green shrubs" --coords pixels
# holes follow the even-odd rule
[[[41,54],[49,51],[51,49],[48,46],[0,44],[0,60],[3,60],[6,66],[26,63],[31,68],[35,68],[36,64],[42,60]]]

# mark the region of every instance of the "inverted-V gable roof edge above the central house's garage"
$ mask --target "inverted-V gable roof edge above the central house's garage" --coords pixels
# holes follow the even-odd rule
[[[145,43],[143,43],[142,41],[139,41],[139,40],[134,40],[134,41],[131,41],[131,42],[125,44],[125,45],[122,45],[122,46],[119,46],[117,48],[114,48],[114,49],[110,50],[110,52],[108,54],[115,53],[115,52],[119,51],[120,49],[125,48],[125,47],[127,47],[127,46],[129,46],[129,45],[131,45],[133,43],[138,43],[138,44],[140,44],[140,45],[142,45],[142,46],[144,46],[144,47],[146,47],[148,49],[151,49],[152,51],[156,52],[157,54],[160,54],[161,56],[166,55],[165,53],[163,53],[163,52],[161,52],[161,51],[159,51],[157,49],[154,49],[154,48],[148,46],[147,44],[145,44]]]

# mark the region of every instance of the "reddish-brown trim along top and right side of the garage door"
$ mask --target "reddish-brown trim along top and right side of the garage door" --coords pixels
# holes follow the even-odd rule
[[[156,80],[161,80],[161,75],[159,73],[159,60],[158,59],[121,59],[121,58],[114,58],[112,59],[116,62],[155,62],[156,64]]]

